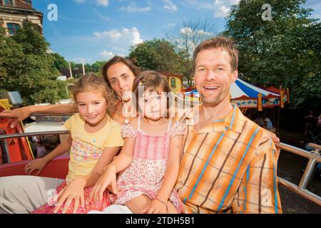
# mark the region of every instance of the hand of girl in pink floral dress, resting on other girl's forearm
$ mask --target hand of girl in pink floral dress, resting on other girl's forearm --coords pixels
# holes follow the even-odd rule
[[[96,182],[96,185],[93,186],[90,199],[93,198],[95,203],[103,200],[103,192],[109,185],[111,185],[111,192],[116,194],[116,165],[113,164],[108,165],[106,167],[106,170],[105,172],[103,172],[103,175],[99,177],[98,181]]]

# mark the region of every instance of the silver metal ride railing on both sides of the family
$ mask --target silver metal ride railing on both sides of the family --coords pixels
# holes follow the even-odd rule
[[[11,134],[11,135],[0,135],[0,143],[5,142],[5,140],[8,138],[31,137],[36,135],[60,135],[60,134],[68,134],[68,133],[69,133],[68,130],[59,130],[59,131],[47,131],[47,132],[39,132],[39,133],[17,133],[17,134]],[[287,145],[282,142],[275,143],[275,145],[277,147],[280,147],[281,150],[292,152],[296,155],[306,157],[309,160],[309,162],[307,162],[307,166],[305,167],[305,172],[301,177],[299,185],[295,185],[294,183],[288,180],[285,180],[282,177],[277,177],[277,181],[280,183],[280,185],[284,185],[292,192],[295,192],[298,195],[301,195],[302,197],[305,197],[306,199],[309,199],[310,201],[315,202],[316,204],[319,204],[321,206],[321,197],[307,190],[307,184],[309,183],[315,171],[315,165],[317,164],[317,162],[321,162],[320,155],[317,155],[317,153],[311,153],[307,150],[302,150],[292,145]],[[315,147],[316,152],[321,150],[320,145],[310,144],[310,146]],[[6,147],[2,147],[2,148],[4,148],[3,152],[6,154],[6,156],[10,158],[9,151],[6,150]]]

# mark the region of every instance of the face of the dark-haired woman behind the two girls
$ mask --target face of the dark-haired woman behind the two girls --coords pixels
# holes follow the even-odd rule
[[[111,88],[118,97],[122,98],[126,91],[131,91],[135,75],[125,63],[119,62],[111,65],[107,70],[107,78]]]

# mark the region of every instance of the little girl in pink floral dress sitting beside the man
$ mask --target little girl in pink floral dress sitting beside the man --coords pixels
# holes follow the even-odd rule
[[[165,118],[170,88],[160,73],[146,71],[138,75],[133,93],[139,117],[121,127],[123,149],[106,167],[91,195],[101,200],[111,185],[116,193],[111,195],[113,204],[126,205],[134,213],[180,213],[183,204],[173,187],[185,125]]]

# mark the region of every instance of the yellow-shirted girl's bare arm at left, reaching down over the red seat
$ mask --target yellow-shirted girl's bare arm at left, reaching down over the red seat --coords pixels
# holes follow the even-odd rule
[[[36,173],[36,175],[38,175],[41,172],[41,170],[44,169],[44,167],[49,161],[53,160],[55,157],[58,157],[59,155],[62,155],[64,152],[67,152],[68,150],[70,150],[70,147],[71,147],[71,135],[69,134],[68,139],[61,142],[61,144],[59,144],[58,147],[56,147],[48,155],[29,162],[24,167],[24,171],[26,172],[26,174],[31,175],[31,172],[34,172],[34,170],[38,170],[38,172]]]

